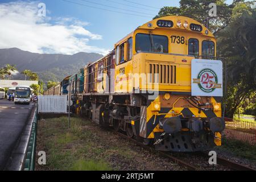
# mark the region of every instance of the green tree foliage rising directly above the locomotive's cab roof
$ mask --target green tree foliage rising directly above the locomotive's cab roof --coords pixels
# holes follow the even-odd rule
[[[217,5],[217,16],[209,16],[209,4],[215,3]],[[227,5],[224,0],[180,0],[180,7],[163,7],[160,9],[155,18],[168,15],[179,15],[193,18],[200,23],[207,24],[209,21],[209,30],[216,34],[219,30],[226,27],[230,21],[232,14],[232,5]],[[154,18],[154,19],[155,19]]]

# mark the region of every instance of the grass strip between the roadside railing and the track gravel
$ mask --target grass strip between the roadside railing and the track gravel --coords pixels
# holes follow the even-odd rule
[[[66,117],[39,121],[38,150],[46,151],[47,165],[38,166],[38,169],[112,170],[108,162],[100,157],[103,149],[93,142],[97,137],[85,129],[89,123],[74,117],[68,129]]]

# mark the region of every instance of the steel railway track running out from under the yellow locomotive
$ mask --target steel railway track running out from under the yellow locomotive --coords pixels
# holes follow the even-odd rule
[[[125,135],[125,134],[115,132],[115,131],[113,131],[113,132],[115,134],[118,134],[122,138],[129,139],[129,140],[133,141],[134,143],[138,144],[139,146],[142,146],[143,148],[146,148],[147,150],[151,150],[151,151],[154,150],[154,147],[144,146],[142,143],[138,142],[137,140],[127,137],[127,135]],[[187,168],[188,170],[191,170],[191,171],[200,171],[200,170],[202,170],[201,167],[196,166],[194,164],[190,164],[189,162],[187,162],[187,160],[189,160],[189,159],[183,160],[180,157],[176,157],[176,156],[172,155],[171,152],[164,152],[164,151],[155,151],[155,152],[157,152],[161,156],[164,156],[164,157],[170,159],[175,164],[179,164],[180,166],[183,166],[183,167]],[[197,155],[197,156],[201,156],[202,160],[204,160],[204,162],[205,161],[208,162],[209,156],[206,152],[194,152],[194,153],[189,154],[189,155],[193,155],[193,154]],[[232,162],[228,159],[224,159],[224,158],[220,158],[220,157],[217,157],[217,164],[221,165],[222,167],[225,167],[225,169],[231,169],[231,170],[236,170],[236,171],[255,171],[255,169],[253,169],[253,168],[250,168],[250,167],[244,166],[242,164],[238,164],[238,163]]]

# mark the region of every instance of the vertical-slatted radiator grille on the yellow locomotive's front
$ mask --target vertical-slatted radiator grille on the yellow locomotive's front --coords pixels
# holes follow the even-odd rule
[[[176,66],[169,64],[149,64],[149,82],[176,84]],[[155,74],[158,74],[156,76]]]

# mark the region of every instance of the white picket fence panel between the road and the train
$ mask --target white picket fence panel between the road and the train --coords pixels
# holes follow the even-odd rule
[[[38,96],[38,113],[67,113],[67,96]]]

